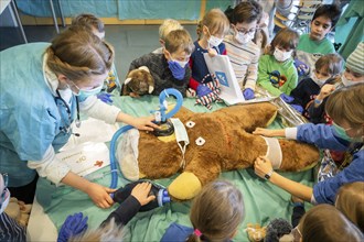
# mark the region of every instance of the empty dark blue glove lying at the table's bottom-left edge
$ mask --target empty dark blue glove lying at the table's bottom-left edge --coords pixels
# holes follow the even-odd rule
[[[87,230],[88,217],[82,212],[68,216],[58,232],[57,242],[67,242],[71,237],[78,235]]]

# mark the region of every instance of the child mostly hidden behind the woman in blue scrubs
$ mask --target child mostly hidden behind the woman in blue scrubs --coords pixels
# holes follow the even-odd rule
[[[100,40],[105,38],[105,26],[104,23],[100,19],[93,14],[87,14],[83,13],[77,15],[75,19],[72,20],[72,26],[83,26],[90,33],[95,34],[98,36]],[[113,90],[121,90],[120,81],[118,78],[118,74],[115,68],[115,64],[113,63],[111,70],[108,74],[108,77],[105,80],[104,87],[103,87],[103,92],[105,91],[106,94],[100,92],[97,97],[107,102],[111,103],[113,100],[110,98],[110,94]]]

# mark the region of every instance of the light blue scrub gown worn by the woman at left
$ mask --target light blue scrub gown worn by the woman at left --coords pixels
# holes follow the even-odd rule
[[[9,187],[26,185],[35,177],[26,161],[40,161],[52,145],[61,148],[69,138],[63,132],[75,116],[55,100],[43,70],[49,43],[18,45],[0,52],[0,170],[9,174]]]

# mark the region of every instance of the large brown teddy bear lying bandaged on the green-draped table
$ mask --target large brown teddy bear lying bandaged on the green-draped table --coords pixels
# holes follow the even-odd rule
[[[180,172],[168,190],[174,199],[186,200],[221,172],[251,167],[258,156],[267,155],[274,168],[280,170],[302,170],[314,165],[319,151],[312,145],[251,134],[257,127],[270,124],[276,114],[276,106],[268,102],[211,113],[182,108],[174,118],[181,120],[189,135],[184,155],[183,142],[178,145],[175,132],[160,139],[131,130],[118,144],[124,153],[117,155],[121,172],[131,180],[170,177]]]

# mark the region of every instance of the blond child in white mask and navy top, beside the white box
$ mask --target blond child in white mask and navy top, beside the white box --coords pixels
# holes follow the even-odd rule
[[[190,58],[192,77],[189,85],[190,88],[196,91],[199,97],[212,92],[211,88],[201,85],[213,80],[203,54],[208,53],[211,56],[226,54],[225,44],[222,42],[228,28],[228,20],[220,9],[210,10],[199,23],[197,33],[200,33],[200,38],[194,42],[195,48]]]

